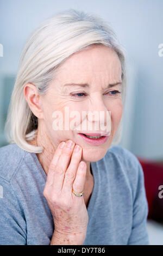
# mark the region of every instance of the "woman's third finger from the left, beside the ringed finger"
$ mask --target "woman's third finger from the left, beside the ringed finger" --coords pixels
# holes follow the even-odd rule
[[[76,145],[74,147],[72,156],[71,156],[71,162],[65,172],[65,179],[62,186],[62,191],[66,193],[72,192],[72,185],[74,182],[74,179],[76,178],[77,169],[80,163],[80,160],[82,158],[82,147],[79,145]]]

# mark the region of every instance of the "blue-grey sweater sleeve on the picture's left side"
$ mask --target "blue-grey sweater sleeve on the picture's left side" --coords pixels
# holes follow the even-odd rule
[[[0,245],[26,245],[26,221],[9,182],[0,178]]]

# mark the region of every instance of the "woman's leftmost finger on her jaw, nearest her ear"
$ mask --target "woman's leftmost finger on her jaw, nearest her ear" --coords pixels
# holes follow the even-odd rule
[[[54,179],[54,169],[55,169],[57,162],[59,160],[59,157],[62,153],[62,149],[65,147],[65,144],[66,144],[66,142],[64,142],[64,141],[59,143],[57,149],[55,150],[53,159],[49,165],[48,174],[47,174],[47,182],[50,182],[51,184],[53,183],[53,179]]]

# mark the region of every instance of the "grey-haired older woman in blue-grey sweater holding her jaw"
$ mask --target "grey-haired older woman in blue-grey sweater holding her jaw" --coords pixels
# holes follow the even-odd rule
[[[0,149],[1,245],[149,244],[143,171],[117,145],[125,95],[100,17],[62,11],[30,36]]]

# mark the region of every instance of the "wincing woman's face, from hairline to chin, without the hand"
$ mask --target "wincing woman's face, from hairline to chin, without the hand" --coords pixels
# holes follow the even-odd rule
[[[41,96],[43,119],[39,120],[54,145],[71,139],[83,148],[84,161],[96,162],[104,157],[122,118],[121,74],[121,63],[116,52],[106,46],[92,46],[75,53],[60,66],[47,94]],[[72,83],[76,85],[65,85]],[[108,87],[109,84],[116,85]],[[76,115],[71,116],[73,111],[76,111]],[[92,115],[91,119],[83,111],[96,111],[97,115]],[[107,117],[110,117],[110,133],[109,126],[106,126],[109,120]],[[76,123],[72,122],[74,119]],[[57,120],[61,123],[57,123]],[[86,126],[82,126],[83,123]],[[96,126],[97,123],[99,126]],[[58,125],[59,130],[54,124]],[[101,125],[105,125],[105,130],[102,130]],[[101,132],[110,134],[102,144],[92,144],[79,135]]]

